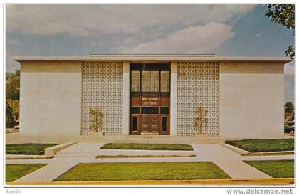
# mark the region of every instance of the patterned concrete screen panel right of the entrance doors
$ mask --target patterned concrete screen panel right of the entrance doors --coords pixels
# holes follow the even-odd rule
[[[219,63],[178,63],[177,135],[196,135],[198,110],[205,110],[203,135],[219,135]]]

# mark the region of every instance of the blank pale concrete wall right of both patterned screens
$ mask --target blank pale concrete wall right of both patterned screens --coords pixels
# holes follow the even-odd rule
[[[283,67],[283,63],[220,63],[221,136],[283,136]]]

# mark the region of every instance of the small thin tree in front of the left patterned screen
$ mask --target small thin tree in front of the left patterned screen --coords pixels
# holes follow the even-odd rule
[[[104,113],[101,108],[90,108],[90,131],[103,132],[104,130]]]

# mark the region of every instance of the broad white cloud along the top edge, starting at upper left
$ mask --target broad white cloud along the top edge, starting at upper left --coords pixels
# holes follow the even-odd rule
[[[255,5],[6,5],[7,31],[38,35],[134,34],[147,28],[226,23]]]

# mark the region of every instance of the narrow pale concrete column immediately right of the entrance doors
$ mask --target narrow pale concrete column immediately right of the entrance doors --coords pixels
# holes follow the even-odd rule
[[[170,135],[177,136],[177,62],[170,69]]]

